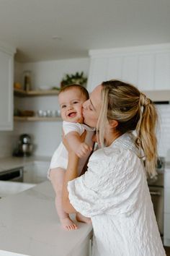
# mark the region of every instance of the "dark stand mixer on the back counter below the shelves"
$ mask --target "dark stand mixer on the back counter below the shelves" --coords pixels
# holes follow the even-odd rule
[[[32,155],[33,144],[30,135],[23,134],[19,136],[17,148],[14,149],[14,156]]]

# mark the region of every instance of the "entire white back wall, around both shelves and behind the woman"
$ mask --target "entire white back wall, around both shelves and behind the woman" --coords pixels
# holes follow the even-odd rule
[[[15,81],[22,81],[22,71],[31,70],[34,74],[35,88],[58,86],[66,73],[89,72],[89,59],[66,59],[42,61],[28,64],[15,64]],[[57,109],[57,96],[16,98],[18,107],[24,109]],[[158,105],[160,130],[158,132],[158,153],[165,156],[170,148],[170,105]],[[28,133],[35,144],[35,155],[52,155],[61,141],[61,122],[36,121],[15,122],[14,132],[0,132],[0,157],[11,155],[20,134]]]

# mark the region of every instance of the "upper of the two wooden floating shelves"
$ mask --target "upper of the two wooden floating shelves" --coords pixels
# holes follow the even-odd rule
[[[59,90],[19,90],[14,89],[14,95],[18,97],[32,97],[32,96],[45,96],[45,95],[58,95]]]

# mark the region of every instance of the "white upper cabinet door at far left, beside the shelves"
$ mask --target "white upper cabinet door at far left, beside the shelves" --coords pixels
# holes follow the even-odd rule
[[[0,130],[13,129],[13,56],[0,51]]]

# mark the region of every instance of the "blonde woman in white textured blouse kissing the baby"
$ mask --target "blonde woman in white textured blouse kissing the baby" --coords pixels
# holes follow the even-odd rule
[[[64,209],[91,218],[95,256],[166,255],[146,180],[155,175],[155,106],[133,85],[111,80],[94,89],[83,114],[102,148],[77,178],[79,158],[66,145]]]

